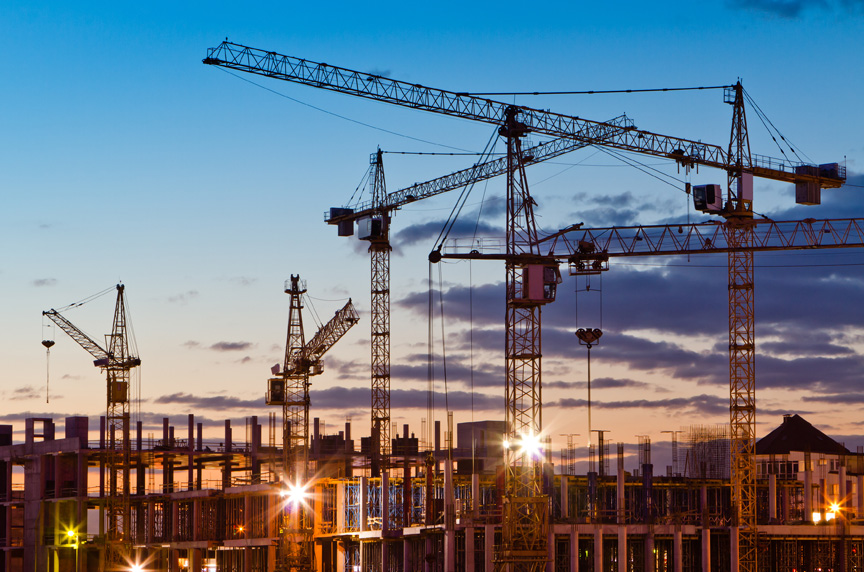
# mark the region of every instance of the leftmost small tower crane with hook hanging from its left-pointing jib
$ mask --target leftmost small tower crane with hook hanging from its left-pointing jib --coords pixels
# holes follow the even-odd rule
[[[93,365],[106,373],[108,378],[108,408],[106,427],[108,445],[105,450],[104,474],[107,476],[106,516],[108,528],[105,548],[102,552],[102,570],[126,570],[131,559],[131,505],[129,503],[129,399],[130,371],[141,365],[141,360],[132,355],[127,336],[125,286],[117,285],[117,302],[114,307],[114,324],[111,333],[105,336],[103,348],[81,331],[58,310],[42,312],[60,326],[70,338],[96,358]],[[106,349],[107,348],[107,349]]]

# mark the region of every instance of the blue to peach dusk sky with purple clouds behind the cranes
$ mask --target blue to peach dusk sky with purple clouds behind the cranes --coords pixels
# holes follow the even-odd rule
[[[4,3],[0,423],[20,435],[25,417],[88,415],[98,427],[104,376],[41,312],[120,281],[147,434],[159,436],[163,417],[185,427],[190,412],[214,436],[224,419],[266,420],[276,411],[264,404],[266,380],[284,354],[283,285],[299,274],[307,338],[313,315],[326,321],[348,297],[361,315],[313,379],[311,415],[325,432],[351,419],[355,438],[368,434],[369,257],[323,214],[368,199],[362,183],[376,148],[396,190],[470,166],[495,130],[202,65],[225,38],[460,92],[741,79],[767,118],[747,110],[754,153],[781,156],[765,127],[773,125],[805,160],[848,169],[847,185],[812,207],[796,205],[788,184],[757,180],[754,210],[775,220],[864,217],[860,0],[313,4]],[[718,90],[499,99],[596,120],[626,113],[641,129],[722,147],[729,139],[731,107]],[[531,167],[541,232],[705,220],[684,183],[725,178],[627,158],[640,168],[597,148]],[[477,185],[451,236],[503,236],[503,193],[503,180]],[[409,423],[421,433],[430,383],[437,420],[448,407],[457,422],[503,418],[503,266],[427,263],[451,195],[394,215],[391,414],[400,432]],[[755,274],[757,436],[799,413],[853,450],[864,445],[864,254],[758,254]],[[629,455],[637,435],[662,456],[663,431],[728,423],[726,280],[722,255],[613,261],[590,283],[565,276],[543,309],[543,426],[553,449],[564,434],[579,434],[580,450],[587,441],[579,327],[604,332],[591,357],[592,428]],[[109,293],[65,315],[101,340],[113,303]],[[50,359],[43,339],[56,341]]]

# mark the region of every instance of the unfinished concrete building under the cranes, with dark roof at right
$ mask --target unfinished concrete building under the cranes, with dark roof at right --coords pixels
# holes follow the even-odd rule
[[[0,426],[3,557],[0,570],[98,570],[105,551],[106,421],[30,418],[24,442]],[[393,429],[392,457],[371,477],[368,438],[350,423],[323,434],[315,420],[302,503],[321,572],[491,572],[501,542],[503,423],[436,427],[434,442]],[[189,415],[161,438],[132,438],[129,570],[264,572],[278,569],[284,513],[274,416],[204,440]],[[240,429],[242,438],[238,438]],[[20,431],[20,428],[19,428]],[[550,530],[547,570],[734,570],[729,440],[723,427],[693,427],[679,463],[656,471],[650,443],[587,474],[561,474],[544,451]],[[262,439],[263,437],[263,439]],[[454,442],[455,441],[455,442]],[[365,450],[364,450],[365,449]],[[634,447],[635,449],[635,447]],[[626,453],[626,455],[625,455]],[[611,463],[609,462],[611,461]],[[609,466],[612,470],[609,470]],[[594,470],[596,469],[596,470]],[[565,471],[572,472],[572,471]],[[757,445],[760,570],[864,569],[864,455],[851,453],[801,417]],[[295,567],[296,568],[296,567]]]

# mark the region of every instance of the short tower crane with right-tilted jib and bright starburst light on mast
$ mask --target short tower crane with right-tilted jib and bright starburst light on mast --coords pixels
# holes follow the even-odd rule
[[[303,502],[309,480],[309,377],[323,373],[321,358],[359,320],[348,302],[306,343],[303,332],[303,295],[306,286],[299,275],[285,283],[291,296],[288,339],[281,371],[267,381],[267,404],[282,406],[282,470],[285,497],[280,511],[278,572],[311,572],[315,569],[312,516]]]

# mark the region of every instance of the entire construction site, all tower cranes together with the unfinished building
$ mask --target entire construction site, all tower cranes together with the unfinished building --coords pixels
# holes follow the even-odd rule
[[[823,189],[844,184],[846,166],[751,153],[740,82],[721,86],[731,135],[711,144],[643,131],[626,116],[592,121],[227,40],[203,63],[492,125],[506,153],[388,192],[379,149],[370,158],[370,201],[325,215],[340,236],[356,233],[368,243],[369,435],[310,411],[310,377],[362,322],[349,300],[307,339],[299,275],[284,287],[291,300],[285,357],[266,379],[261,403],[270,413],[247,416],[243,427],[225,420],[216,439],[205,439],[194,414],[178,427],[165,418],[158,438],[141,421],[133,426],[131,372],[142,360],[130,344],[123,284],[112,288],[104,343],[65,308],[44,311],[105,374],[107,409],[99,419],[28,418],[24,442],[13,440],[21,428],[0,425],[0,572],[864,570],[864,451],[848,450],[794,412],[757,438],[753,276],[756,252],[864,246],[864,219],[754,218],[754,180],[794,185],[797,204],[818,205]],[[523,147],[529,133],[548,140]],[[587,146],[663,159],[687,172],[716,170],[723,184],[686,189],[693,208],[714,219],[577,224],[541,235],[526,167]],[[466,243],[448,231],[429,261],[502,263],[506,409],[497,419],[455,423],[448,411],[421,427],[399,427],[390,405],[392,214],[499,175],[506,178],[506,238]],[[672,432],[673,461],[662,468],[652,462],[649,437],[627,450],[592,430],[588,471],[577,474],[576,447],[568,441],[560,455],[553,451],[542,416],[541,312],[554,303],[562,272],[592,276],[616,258],[704,253],[728,260],[728,423]],[[603,332],[575,334],[588,350],[590,401],[590,351]],[[50,350],[55,341],[42,343]],[[322,430],[334,426],[336,433]]]

